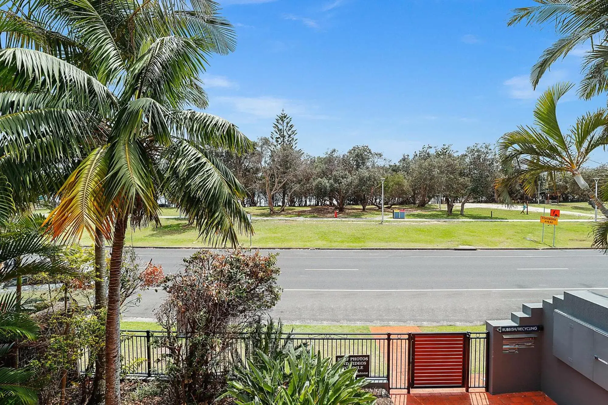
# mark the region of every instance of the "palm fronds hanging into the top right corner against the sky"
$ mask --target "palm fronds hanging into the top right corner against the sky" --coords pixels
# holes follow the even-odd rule
[[[560,36],[534,64],[530,81],[534,88],[555,61],[577,46],[590,42],[582,61],[579,95],[590,99],[608,90],[608,0],[534,0],[539,5],[513,10],[509,26],[526,22],[554,24]]]

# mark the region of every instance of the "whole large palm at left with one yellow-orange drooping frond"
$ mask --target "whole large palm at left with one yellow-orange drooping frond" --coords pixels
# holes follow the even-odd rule
[[[33,49],[0,50],[0,85],[18,93],[19,112],[26,112],[4,112],[1,130],[12,139],[27,128],[32,140],[92,145],[60,190],[49,221],[57,237],[97,229],[112,240],[106,403],[116,404],[128,220],[133,227],[158,223],[157,198],[163,195],[214,243],[235,245],[239,232],[252,231],[239,203],[243,187],[210,150],[246,150],[249,140],[219,117],[184,109],[206,106],[199,75],[206,55],[233,48],[232,31],[217,4],[207,0],[49,1],[32,6],[26,22],[24,16],[6,16],[17,26],[10,28],[11,43]],[[41,33],[31,28],[33,21],[46,24]],[[64,32],[69,35],[58,34]],[[49,37],[55,42],[40,40]],[[17,156],[19,151],[13,147]]]

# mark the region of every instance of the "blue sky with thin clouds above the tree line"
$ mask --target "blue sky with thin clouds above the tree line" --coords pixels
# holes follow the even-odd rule
[[[531,0],[228,0],[236,52],[214,56],[207,110],[251,139],[282,108],[310,154],[367,144],[396,161],[426,144],[494,144],[532,122],[530,67],[556,38],[550,27],[506,27]],[[554,65],[539,90],[578,81],[581,50]],[[562,128],[605,97],[575,91]]]

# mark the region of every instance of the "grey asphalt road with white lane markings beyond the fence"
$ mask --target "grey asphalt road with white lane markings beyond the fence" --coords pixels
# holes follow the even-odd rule
[[[193,252],[136,251],[165,272]],[[608,294],[608,257],[590,250],[279,253],[284,291],[272,316],[288,324],[481,324],[568,289]],[[145,291],[125,317],[152,318],[163,294]]]

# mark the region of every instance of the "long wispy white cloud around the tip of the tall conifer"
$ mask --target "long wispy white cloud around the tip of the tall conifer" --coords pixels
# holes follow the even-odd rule
[[[294,100],[263,95],[260,97],[224,96],[215,97],[213,102],[232,106],[237,112],[258,118],[274,118],[284,108],[291,116],[309,119],[328,119],[328,116],[316,114],[316,107],[304,105]]]

